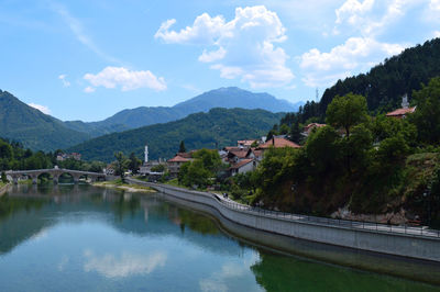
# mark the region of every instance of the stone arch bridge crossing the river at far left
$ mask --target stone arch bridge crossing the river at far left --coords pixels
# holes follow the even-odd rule
[[[54,183],[58,183],[59,176],[62,176],[63,173],[70,175],[74,178],[75,183],[77,183],[79,181],[79,178],[81,178],[81,177],[87,177],[91,181],[96,181],[98,179],[106,180],[106,173],[72,170],[72,169],[64,169],[64,168],[6,171],[7,177],[12,178],[12,181],[15,184],[19,182],[19,179],[22,177],[31,178],[32,183],[36,184],[38,177],[43,173],[51,175],[53,177]]]

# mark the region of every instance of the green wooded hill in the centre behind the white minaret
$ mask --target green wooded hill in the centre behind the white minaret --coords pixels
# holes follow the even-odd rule
[[[264,135],[284,113],[264,110],[212,109],[208,113],[191,114],[183,120],[144,126],[122,133],[113,133],[74,146],[89,160],[111,161],[114,151],[129,155],[134,151],[143,157],[145,144],[150,157],[169,158],[185,141],[187,149],[216,148],[237,145],[238,139],[257,138]]]

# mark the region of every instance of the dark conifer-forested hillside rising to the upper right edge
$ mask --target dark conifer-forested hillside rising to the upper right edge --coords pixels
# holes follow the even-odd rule
[[[407,48],[367,74],[339,80],[323,93],[319,114],[326,113],[336,96],[349,92],[365,97],[370,111],[389,111],[400,104],[402,96],[407,93],[411,99],[414,90],[420,90],[421,83],[427,85],[436,76],[440,76],[440,38]]]

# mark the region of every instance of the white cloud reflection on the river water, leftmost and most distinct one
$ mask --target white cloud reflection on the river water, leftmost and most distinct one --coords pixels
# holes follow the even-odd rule
[[[134,274],[148,274],[158,267],[164,267],[167,256],[157,251],[150,256],[123,252],[120,257],[113,255],[96,256],[92,251],[85,251],[86,272],[96,271],[106,278],[124,278]]]

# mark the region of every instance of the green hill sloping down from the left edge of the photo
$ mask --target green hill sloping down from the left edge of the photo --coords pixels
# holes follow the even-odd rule
[[[88,134],[67,128],[62,121],[1,90],[0,136],[20,142],[33,150],[66,148],[89,138]]]

